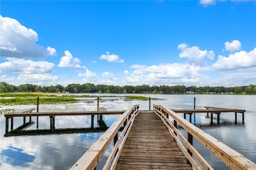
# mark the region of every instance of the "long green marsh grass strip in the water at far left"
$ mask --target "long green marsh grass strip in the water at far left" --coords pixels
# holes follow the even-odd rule
[[[41,97],[39,99],[40,104],[65,104],[75,103],[77,99],[72,97]],[[37,98],[22,98],[14,97],[11,99],[0,99],[1,105],[37,105]]]

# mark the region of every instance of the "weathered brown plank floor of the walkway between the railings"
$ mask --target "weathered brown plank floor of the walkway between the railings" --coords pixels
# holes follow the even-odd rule
[[[192,170],[192,167],[159,117],[153,111],[140,111],[116,169]]]

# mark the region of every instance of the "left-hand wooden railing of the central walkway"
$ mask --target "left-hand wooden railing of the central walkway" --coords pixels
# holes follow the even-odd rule
[[[100,159],[114,140],[114,147],[108,160],[106,161],[104,170],[114,169],[120,152],[124,146],[124,142],[130,132],[134,118],[139,112],[139,105],[134,105],[125,111],[104,134],[90,147],[90,149],[70,168],[71,170],[94,170]],[[122,133],[118,137],[118,130],[124,125]],[[110,167],[111,166],[111,167]]]

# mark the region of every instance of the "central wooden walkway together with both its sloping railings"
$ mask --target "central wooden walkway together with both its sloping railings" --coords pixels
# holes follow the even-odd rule
[[[255,166],[248,166],[254,165],[254,162],[192,125],[178,113],[161,105],[153,106],[154,110],[148,111],[140,111],[139,105],[130,107],[70,170],[95,170],[112,141],[113,149],[100,169],[213,170],[193,147],[193,138],[225,164],[243,165],[232,169],[256,169]],[[172,117],[173,123],[169,117]],[[186,137],[179,132],[177,124],[187,131]],[[121,126],[124,128],[118,134]]]

